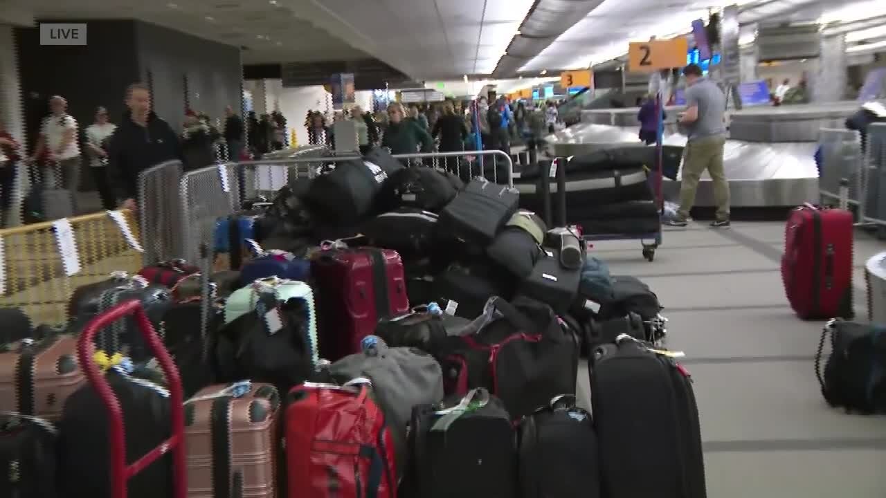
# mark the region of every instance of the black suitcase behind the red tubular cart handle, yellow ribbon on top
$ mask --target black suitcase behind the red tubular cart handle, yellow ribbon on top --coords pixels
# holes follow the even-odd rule
[[[171,433],[169,393],[143,378],[130,377],[115,367],[107,371],[123,416],[126,461],[167,440]],[[109,422],[105,403],[92,385],[68,397],[58,424],[58,488],[65,498],[109,498],[111,457]],[[172,454],[161,456],[128,479],[129,498],[172,496]]]

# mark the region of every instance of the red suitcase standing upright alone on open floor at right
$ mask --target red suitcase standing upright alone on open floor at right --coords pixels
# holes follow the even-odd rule
[[[852,312],[852,214],[806,204],[788,218],[781,280],[790,307],[803,319]]]

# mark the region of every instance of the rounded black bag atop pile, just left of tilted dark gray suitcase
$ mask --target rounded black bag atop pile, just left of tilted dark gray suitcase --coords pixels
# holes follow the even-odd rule
[[[436,213],[457,193],[442,172],[432,167],[406,167],[392,173],[382,184],[377,197],[378,210],[413,207]]]

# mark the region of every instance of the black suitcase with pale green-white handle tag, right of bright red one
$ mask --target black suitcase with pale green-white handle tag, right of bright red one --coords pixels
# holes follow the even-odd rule
[[[474,401],[475,409],[454,409]],[[401,490],[422,498],[517,496],[516,436],[501,400],[475,389],[438,406],[412,410],[409,461]]]

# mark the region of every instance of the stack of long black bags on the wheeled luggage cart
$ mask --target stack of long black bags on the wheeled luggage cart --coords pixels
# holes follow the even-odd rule
[[[569,222],[578,224],[587,236],[638,236],[661,230],[659,204],[653,183],[656,148],[642,144],[618,144],[570,158],[539,161],[540,167],[525,168],[515,181],[520,205],[541,212],[543,196],[550,190],[565,190],[563,208]],[[682,147],[662,150],[663,175],[676,178]],[[555,181],[563,169],[565,183]],[[563,214],[565,216],[565,214]]]

